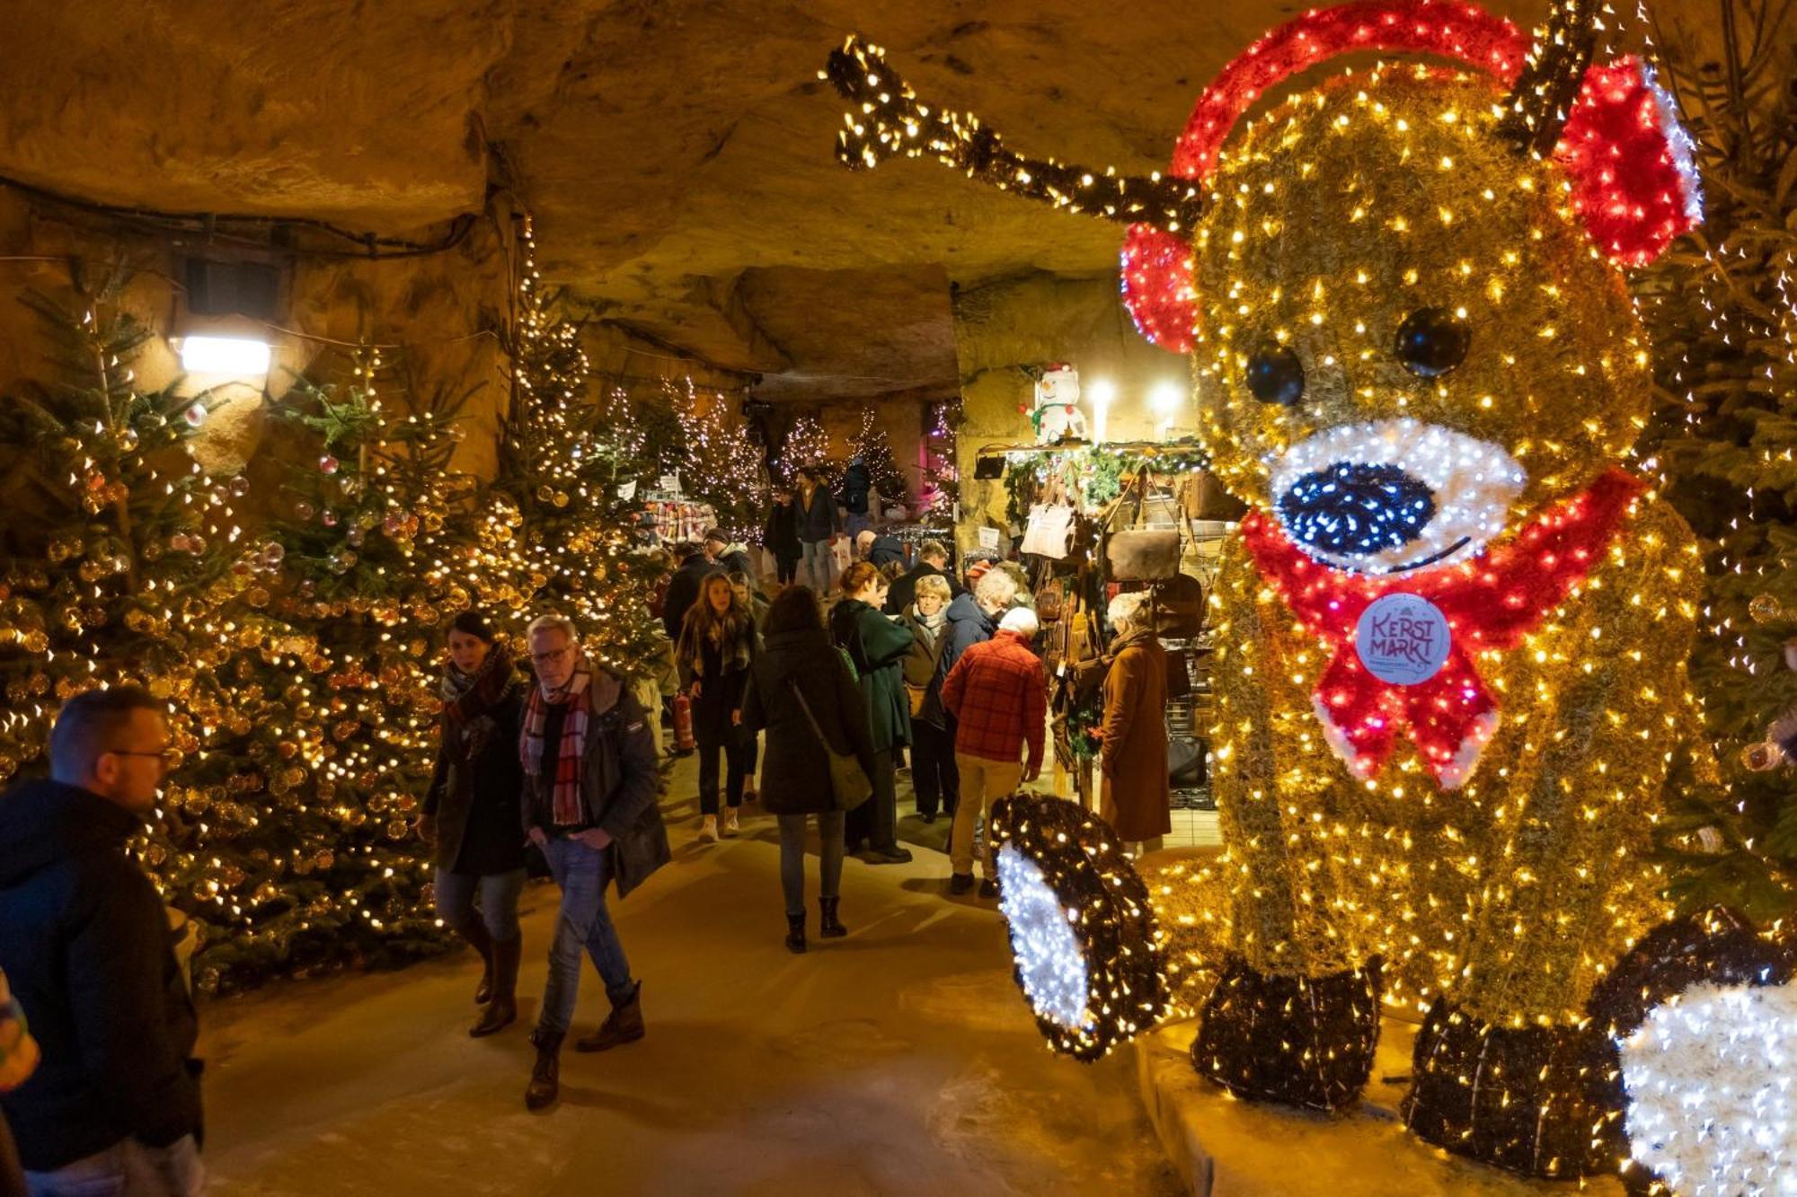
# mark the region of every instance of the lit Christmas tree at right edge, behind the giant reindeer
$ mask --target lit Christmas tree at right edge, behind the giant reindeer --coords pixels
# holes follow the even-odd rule
[[[1677,890],[1766,920],[1797,909],[1797,45],[1777,5],[1720,9],[1716,59],[1666,47],[1705,214],[1641,284],[1664,401],[1644,453],[1704,539],[1691,676],[1729,785],[1668,825]]]

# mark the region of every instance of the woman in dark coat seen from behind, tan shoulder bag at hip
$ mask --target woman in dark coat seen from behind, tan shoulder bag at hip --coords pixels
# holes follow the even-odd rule
[[[742,726],[767,732],[762,805],[780,816],[780,888],[787,902],[787,947],[805,951],[805,816],[818,816],[823,877],[818,933],[848,935],[837,918],[843,881],[843,811],[830,789],[830,749],[854,755],[873,776],[868,705],[848,661],[823,629],[818,595],[789,586],[767,609],[766,647],[742,696]],[[803,699],[800,697],[803,696]],[[807,714],[809,708],[809,714]],[[816,721],[816,723],[812,723]]]

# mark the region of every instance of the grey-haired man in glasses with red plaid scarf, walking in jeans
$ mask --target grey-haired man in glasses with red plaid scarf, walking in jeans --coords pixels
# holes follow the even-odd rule
[[[606,1051],[643,1037],[642,983],[631,978],[606,886],[616,881],[622,899],[667,864],[668,834],[656,802],[654,737],[624,679],[588,660],[564,615],[539,616],[527,640],[537,681],[518,742],[525,834],[543,848],[562,891],[543,1012],[530,1035],[537,1060],[525,1089],[525,1105],[543,1109],[559,1087],[582,949],[606,981],[611,1015],[575,1050]]]

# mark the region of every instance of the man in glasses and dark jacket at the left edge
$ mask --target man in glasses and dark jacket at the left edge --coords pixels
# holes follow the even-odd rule
[[[0,971],[43,1050],[0,1109],[31,1192],[205,1186],[199,1024],[162,899],[126,852],[167,771],[162,710],[137,687],[68,699],[52,780],[0,798]]]

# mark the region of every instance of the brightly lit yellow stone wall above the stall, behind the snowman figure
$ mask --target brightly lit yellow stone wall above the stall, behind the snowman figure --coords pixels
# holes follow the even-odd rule
[[[956,541],[967,552],[978,545],[978,528],[996,525],[1003,536],[1022,528],[1005,521],[1003,482],[978,482],[974,458],[981,446],[1028,444],[1033,381],[1026,367],[1066,361],[1078,367],[1082,404],[1093,419],[1089,390],[1094,381],[1116,386],[1107,440],[1148,440],[1159,417],[1148,395],[1155,386],[1188,388],[1186,358],[1155,349],[1136,332],[1118,297],[1114,275],[1060,279],[1030,273],[981,288],[961,288],[954,297],[954,350],[961,370],[963,424],[956,437],[961,474],[961,519]],[[1173,430],[1190,428],[1191,406],[1182,403]]]

